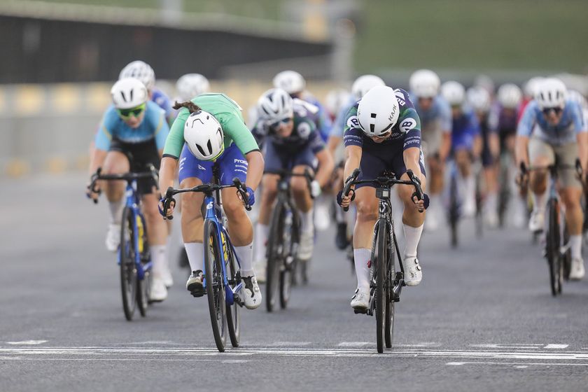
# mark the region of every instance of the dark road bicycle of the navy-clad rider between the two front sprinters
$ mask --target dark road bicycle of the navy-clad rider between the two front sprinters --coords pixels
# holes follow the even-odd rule
[[[290,192],[290,178],[293,176],[304,177],[308,190],[311,192],[313,176],[308,169],[304,170],[304,173],[293,173],[286,170],[266,173],[279,176],[278,194],[269,221],[266,249],[265,307],[267,311],[273,311],[278,297],[281,309],[286,309],[288,306],[298,264],[300,264],[302,281],[307,281],[308,261],[299,262],[297,260],[301,234],[300,214],[298,214]]]

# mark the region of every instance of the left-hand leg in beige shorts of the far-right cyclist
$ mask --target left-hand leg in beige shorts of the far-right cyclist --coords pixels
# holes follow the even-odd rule
[[[528,143],[528,156],[531,167],[545,167],[555,162],[552,146],[541,139],[531,137]],[[529,221],[529,229],[533,232],[543,229],[545,203],[547,202],[547,170],[535,170],[529,176],[529,188],[533,198],[533,214]]]

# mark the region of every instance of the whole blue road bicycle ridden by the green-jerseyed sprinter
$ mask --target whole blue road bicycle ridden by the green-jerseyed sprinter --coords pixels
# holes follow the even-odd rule
[[[245,201],[245,208],[251,211],[247,204],[246,189],[237,177],[230,185],[218,183],[218,165],[213,166],[214,182],[202,184],[193,188],[168,188],[165,193],[163,216],[167,216],[174,195],[186,192],[204,193],[202,203],[202,217],[204,218],[204,294],[207,295],[212,332],[218,351],[225,351],[227,331],[233,347],[239,346],[241,336],[241,317],[239,308],[244,306],[239,293],[243,289],[239,258],[235,253],[229,233],[225,228],[221,204],[221,189],[237,188],[241,200]]]

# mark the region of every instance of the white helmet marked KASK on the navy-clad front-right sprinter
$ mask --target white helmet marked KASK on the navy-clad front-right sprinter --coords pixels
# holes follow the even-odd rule
[[[382,136],[391,131],[400,116],[400,106],[392,87],[375,86],[366,92],[357,108],[359,126],[367,136]]]

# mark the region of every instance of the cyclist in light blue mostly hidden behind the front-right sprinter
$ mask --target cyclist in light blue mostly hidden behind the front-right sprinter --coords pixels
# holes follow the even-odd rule
[[[345,123],[349,109],[351,109],[353,105],[355,105],[356,102],[358,102],[361,97],[365,95],[366,92],[377,85],[386,85],[386,83],[384,83],[384,80],[381,80],[379,76],[375,75],[362,75],[353,82],[353,85],[351,85],[351,97],[349,98],[349,102],[347,102],[344,106],[342,106],[342,109],[339,110],[339,113],[335,118],[335,122],[332,124],[330,130],[327,147],[332,157],[337,156],[337,148],[343,140],[343,132],[345,129]],[[345,161],[343,158],[339,158],[337,159],[337,162],[337,172],[335,179],[333,179],[332,188],[332,193],[335,195],[337,192],[339,192],[339,190],[343,189],[343,167]],[[335,209],[335,221],[337,221],[335,245],[337,248],[343,250],[349,245],[349,240],[347,239],[347,221],[342,209]]]

